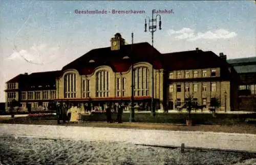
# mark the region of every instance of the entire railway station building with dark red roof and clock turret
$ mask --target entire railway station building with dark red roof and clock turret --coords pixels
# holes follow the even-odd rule
[[[132,90],[132,65],[134,90]],[[20,74],[7,82],[6,107],[15,99],[24,108],[47,108],[49,102],[66,101],[83,106],[129,105],[132,91],[136,107],[149,110],[154,76],[156,109],[176,109],[193,94],[199,105],[220,100],[220,111],[236,109],[235,71],[223,54],[198,48],[160,53],[147,42],[125,45],[119,33],[111,46],[93,49],[60,71]],[[80,104],[80,105],[81,105]]]

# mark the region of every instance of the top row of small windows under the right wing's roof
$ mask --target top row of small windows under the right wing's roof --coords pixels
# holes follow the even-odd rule
[[[203,70],[203,71],[202,71],[202,77],[207,77],[207,76],[208,76],[208,75],[207,75],[207,70]],[[211,69],[210,76],[212,76],[212,77],[216,76],[216,70],[215,70],[215,69]],[[199,77],[197,70],[193,71],[193,76],[191,76],[191,75],[189,74],[189,71],[185,71],[185,78],[192,78],[192,77],[193,77],[193,78]],[[174,73],[173,73],[173,72],[170,72],[170,73],[169,73],[169,78],[170,78],[170,79],[173,79],[173,78],[174,78]],[[177,72],[177,78],[182,78],[182,73],[181,73],[181,71],[178,71],[178,72]]]

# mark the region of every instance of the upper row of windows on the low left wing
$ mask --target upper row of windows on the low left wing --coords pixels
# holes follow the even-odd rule
[[[50,94],[50,96],[49,96]],[[35,91],[35,92],[22,92],[21,99],[22,100],[40,100],[40,99],[55,99],[56,98],[56,91],[42,91],[42,97],[41,97],[41,91]]]

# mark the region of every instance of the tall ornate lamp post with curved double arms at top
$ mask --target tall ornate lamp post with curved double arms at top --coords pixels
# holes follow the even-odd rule
[[[156,15],[154,18],[154,10],[152,10],[152,19],[148,18],[148,31],[150,31],[152,35],[152,100],[151,100],[151,113],[153,116],[156,116],[156,111],[155,111],[155,103],[154,103],[154,68],[153,68],[153,63],[154,63],[154,32],[157,30],[157,17],[159,17],[159,30],[161,30],[161,16],[159,14]],[[145,18],[145,31],[146,32],[146,18]]]

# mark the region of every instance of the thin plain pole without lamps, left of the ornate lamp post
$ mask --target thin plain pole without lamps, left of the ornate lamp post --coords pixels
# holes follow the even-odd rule
[[[134,119],[134,72],[133,72],[133,65],[134,65],[134,58],[133,58],[133,33],[132,33],[132,45],[131,45],[131,63],[132,63],[132,96],[131,96],[131,112],[130,112],[130,122],[135,122]]]

